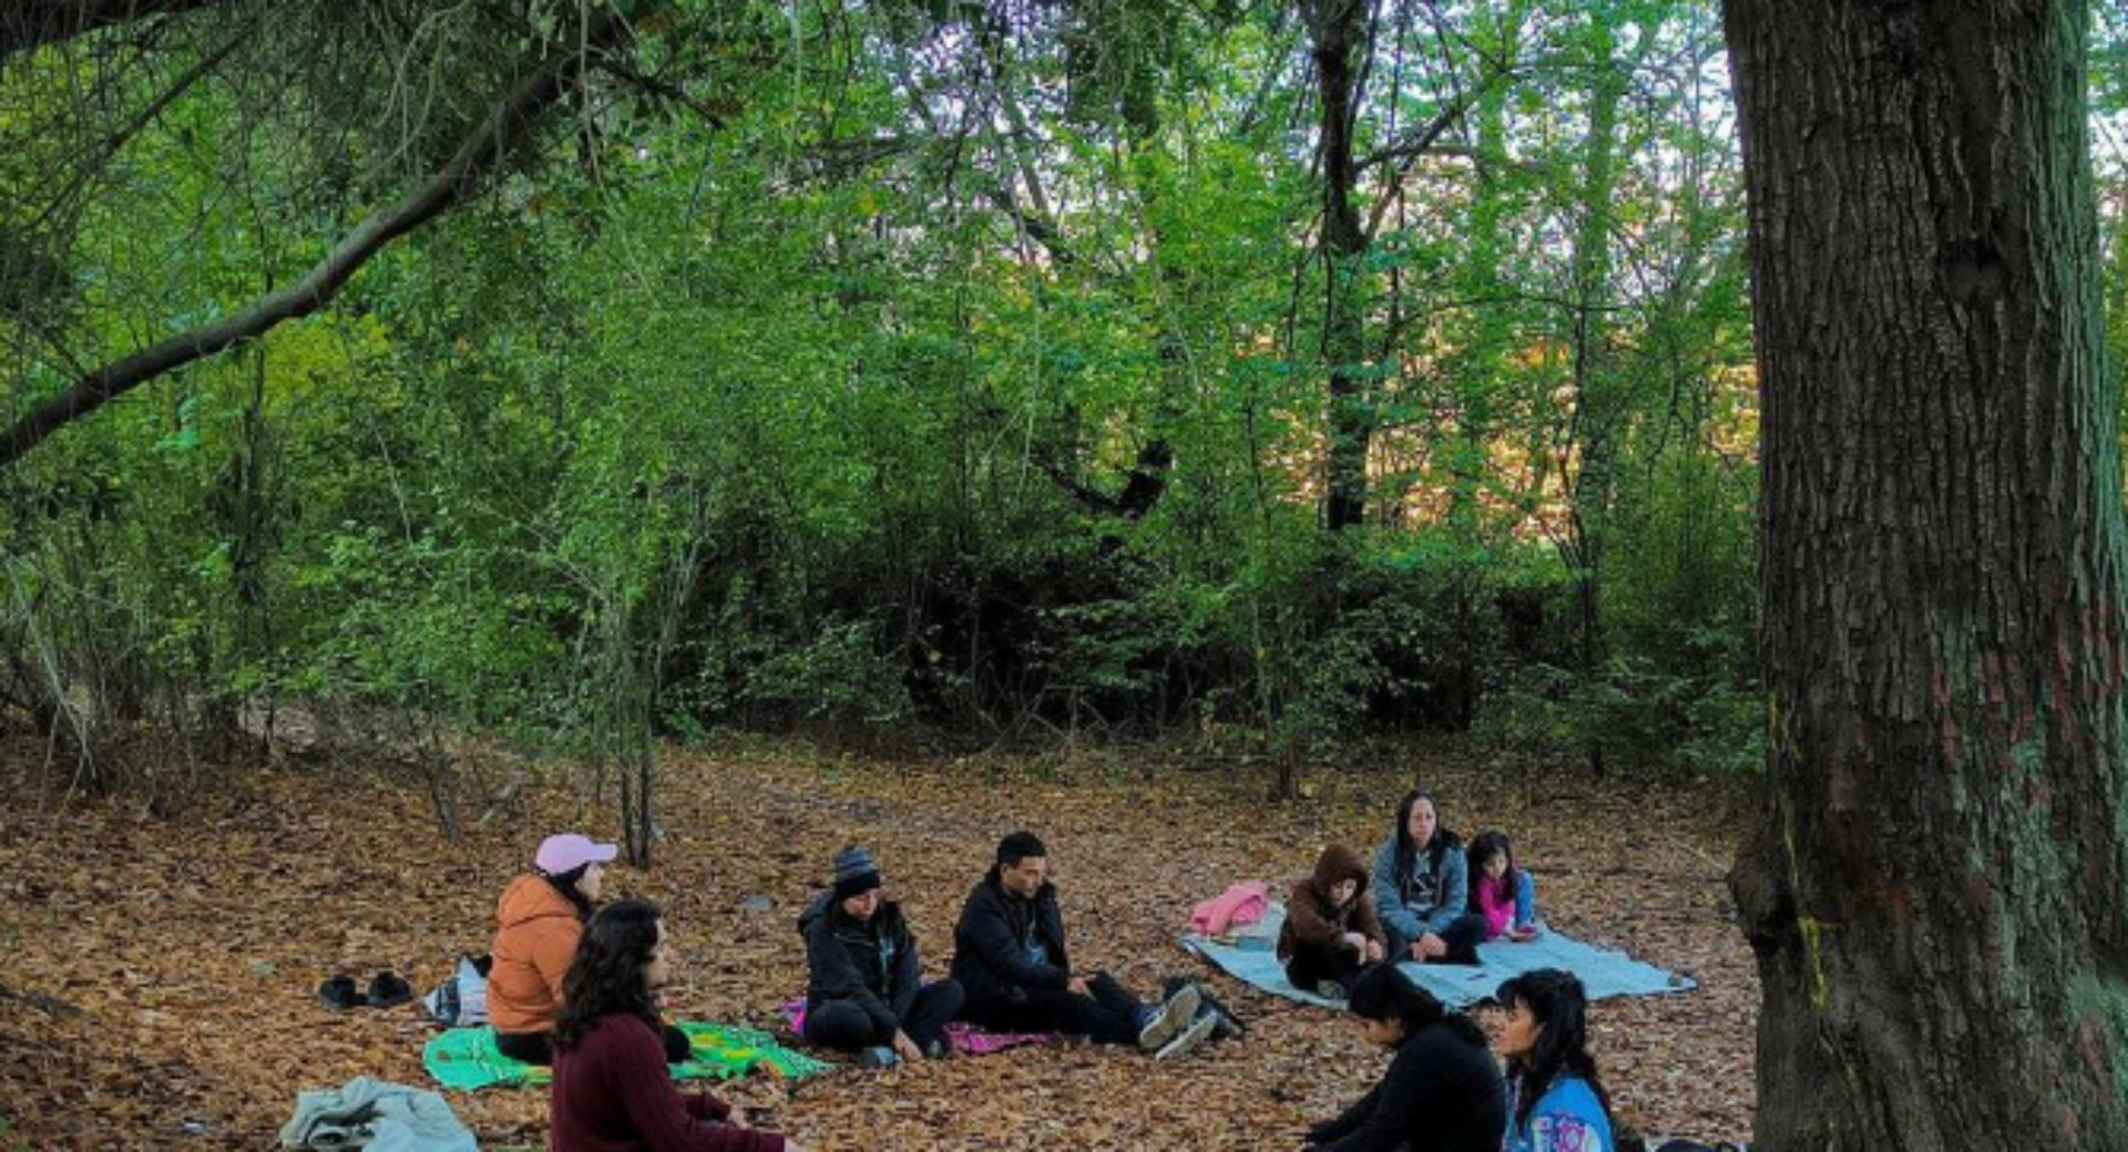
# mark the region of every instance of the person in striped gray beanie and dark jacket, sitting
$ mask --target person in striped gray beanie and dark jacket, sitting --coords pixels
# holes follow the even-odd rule
[[[798,935],[811,1044],[858,1052],[870,1067],[945,1054],[960,984],[924,984],[915,935],[902,908],[881,895],[870,852],[851,844],[834,854],[832,886],[798,916]]]

